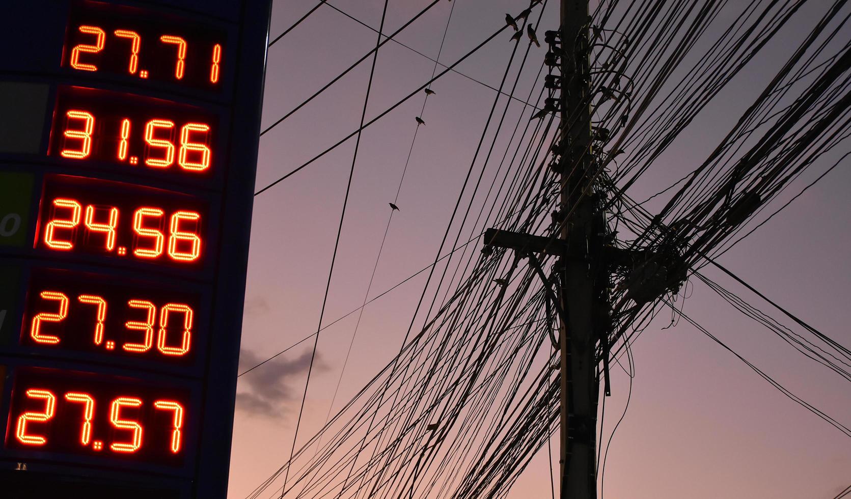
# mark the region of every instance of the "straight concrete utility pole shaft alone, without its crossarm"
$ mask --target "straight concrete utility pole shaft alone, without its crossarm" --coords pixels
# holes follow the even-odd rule
[[[563,153],[562,207],[567,215],[562,238],[570,256],[563,256],[559,301],[567,315],[560,321],[561,348],[561,497],[597,497],[597,362],[594,316],[600,307],[594,278],[602,247],[593,233],[599,214],[591,194],[591,106],[588,62],[588,0],[562,0]]]

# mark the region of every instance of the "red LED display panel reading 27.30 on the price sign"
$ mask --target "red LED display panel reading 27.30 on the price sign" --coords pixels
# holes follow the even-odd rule
[[[20,343],[187,365],[203,334],[197,295],[162,284],[113,284],[96,275],[34,271]]]

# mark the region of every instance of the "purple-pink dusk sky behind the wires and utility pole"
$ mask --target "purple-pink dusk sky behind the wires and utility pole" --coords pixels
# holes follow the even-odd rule
[[[315,1],[277,1],[271,35],[283,32]],[[331,3],[371,26],[379,25],[384,4],[380,0]],[[395,31],[428,3],[391,2],[386,32]],[[453,3],[454,13],[440,56],[447,63],[499,28],[506,12],[517,13],[528,5],[525,0]],[[542,39],[545,30],[557,27],[557,1],[549,3],[538,30]],[[812,27],[825,4],[818,0],[802,9],[769,44],[764,56],[730,83],[631,188],[631,197],[647,198],[694,169],[739,118],[743,106],[773,77],[778,60],[787,56],[790,47]],[[448,2],[438,4],[398,39],[435,57],[451,7]],[[737,9],[736,5],[725,9],[713,29],[726,26]],[[851,32],[844,32],[848,39]],[[497,86],[511,54],[509,37],[508,32],[501,34],[459,66],[459,71]],[[264,127],[328,83],[374,43],[373,32],[333,9],[318,9],[269,51]],[[544,48],[533,47],[517,95],[528,95],[544,54]],[[378,57],[367,117],[374,117],[420,87],[431,76],[433,66],[408,49],[386,44]],[[367,61],[262,137],[259,187],[357,129],[368,72]],[[432,89],[437,95],[428,100],[422,114],[426,126],[420,127],[414,144],[397,202],[401,211],[393,215],[370,297],[433,260],[494,99],[491,89],[451,72]],[[414,116],[420,113],[424,96],[408,100],[363,132],[323,324],[363,302],[390,215],[387,203],[396,197],[416,129]],[[513,126],[511,120],[517,120],[522,107],[512,105],[506,123]],[[497,141],[498,151],[505,149],[506,141],[507,135]],[[353,151],[354,141],[349,141],[256,198],[243,365],[255,364],[317,329]],[[825,161],[808,169],[789,195],[775,200],[767,213],[829,166]],[[851,266],[847,262],[851,248],[847,186],[851,185],[851,172],[843,166],[719,261],[815,328],[851,346]],[[488,184],[494,169],[495,163],[488,163]],[[479,247],[477,244],[476,250]],[[791,320],[721,272],[706,267],[705,274],[781,323],[791,325]],[[366,308],[346,375],[340,382],[335,410],[396,353],[424,278],[412,279]],[[685,312],[690,317],[793,393],[842,424],[851,425],[846,381],[803,358],[700,281],[692,279],[687,292],[690,296]],[[299,445],[325,422],[356,320],[357,314],[353,314],[323,330],[319,338]],[[684,320],[662,330],[670,321],[670,311],[663,310],[633,347],[637,375],[629,410],[608,451],[605,496],[830,499],[851,484],[851,439],[786,399]],[[312,341],[306,341],[241,379],[231,456],[231,499],[246,496],[287,460],[311,346]],[[613,367],[613,396],[607,400],[603,441],[608,441],[623,411],[628,384],[625,373]],[[553,445],[556,451],[557,439]],[[546,459],[544,449],[509,497],[549,496]]]

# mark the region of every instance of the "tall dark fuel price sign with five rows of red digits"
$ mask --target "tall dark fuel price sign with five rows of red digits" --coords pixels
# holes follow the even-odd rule
[[[0,483],[16,494],[225,499],[270,10],[4,7]]]

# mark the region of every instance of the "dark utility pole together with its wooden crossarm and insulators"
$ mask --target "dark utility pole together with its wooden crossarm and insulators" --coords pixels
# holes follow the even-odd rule
[[[560,76],[548,75],[545,87],[561,89],[559,99],[546,100],[547,111],[561,112],[560,157],[552,163],[561,175],[561,205],[553,216],[564,221],[560,238],[490,228],[485,246],[510,248],[529,258],[557,301],[561,350],[562,499],[597,497],[597,340],[603,346],[603,373],[608,394],[608,330],[611,327],[605,289],[609,263],[632,266],[633,258],[614,246],[604,247],[605,222],[599,199],[591,189],[595,166],[591,151],[591,77],[589,74],[588,0],[561,0],[561,31],[546,32],[550,51],[547,66],[558,66]],[[556,105],[557,102],[557,105]],[[566,220],[565,220],[566,217]],[[535,254],[557,256],[558,290]]]

